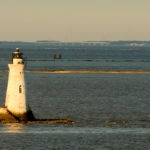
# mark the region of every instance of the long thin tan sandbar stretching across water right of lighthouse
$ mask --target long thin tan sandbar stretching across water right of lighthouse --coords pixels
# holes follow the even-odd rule
[[[150,74],[143,70],[30,70],[34,73],[62,73],[62,74]]]

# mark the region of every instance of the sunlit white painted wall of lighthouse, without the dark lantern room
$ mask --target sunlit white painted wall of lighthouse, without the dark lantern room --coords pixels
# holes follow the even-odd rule
[[[8,64],[9,77],[5,106],[14,115],[21,115],[29,110],[26,101],[26,87],[24,79],[24,64],[22,59],[13,59]]]

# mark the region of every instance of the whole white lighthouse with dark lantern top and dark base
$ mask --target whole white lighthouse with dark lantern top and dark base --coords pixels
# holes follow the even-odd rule
[[[19,48],[12,53],[12,63],[8,64],[9,77],[6,92],[5,107],[7,111],[19,120],[34,120],[33,113],[27,104],[24,79],[24,62]]]

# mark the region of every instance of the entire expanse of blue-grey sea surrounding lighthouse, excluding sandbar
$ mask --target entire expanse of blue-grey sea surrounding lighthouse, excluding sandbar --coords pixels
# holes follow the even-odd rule
[[[80,46],[45,43],[0,45],[0,104],[4,105],[7,63],[23,47],[27,97],[37,118],[74,124],[1,124],[0,149],[149,150],[150,76],[147,74],[33,73],[45,69],[149,71],[149,47]],[[49,49],[49,47],[51,49]],[[21,48],[22,49],[22,48]],[[53,59],[61,53],[62,59]],[[39,61],[40,60],[40,61]]]

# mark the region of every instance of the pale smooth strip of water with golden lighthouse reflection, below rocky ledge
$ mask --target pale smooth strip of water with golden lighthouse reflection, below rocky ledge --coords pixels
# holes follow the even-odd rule
[[[149,128],[90,128],[90,127],[53,127],[49,125],[6,124],[0,133],[25,134],[149,134]]]

